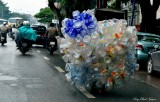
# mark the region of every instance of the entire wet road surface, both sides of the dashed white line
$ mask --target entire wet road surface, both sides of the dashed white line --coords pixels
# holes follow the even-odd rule
[[[0,102],[160,102],[160,88],[155,86],[159,84],[158,75],[147,78],[138,71],[124,89],[91,94],[66,80],[59,52],[51,56],[36,46],[26,54],[16,50],[10,38],[0,46]]]

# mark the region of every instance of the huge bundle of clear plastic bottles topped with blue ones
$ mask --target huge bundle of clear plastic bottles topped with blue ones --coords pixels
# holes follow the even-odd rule
[[[72,14],[73,19],[65,18],[61,28],[67,79],[88,88],[123,88],[138,69],[135,27],[118,19],[97,22],[92,10]]]

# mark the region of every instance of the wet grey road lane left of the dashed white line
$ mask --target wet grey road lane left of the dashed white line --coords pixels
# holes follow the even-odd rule
[[[0,102],[78,102],[79,93],[34,49],[23,56],[9,38],[0,46]]]

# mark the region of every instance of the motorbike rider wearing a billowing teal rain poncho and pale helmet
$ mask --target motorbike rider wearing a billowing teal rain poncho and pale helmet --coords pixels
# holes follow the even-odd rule
[[[29,21],[24,21],[23,25],[18,28],[19,33],[16,33],[15,42],[17,44],[17,49],[19,49],[21,41],[27,41],[29,47],[32,46],[34,41],[37,38],[37,34],[35,31],[30,27]]]

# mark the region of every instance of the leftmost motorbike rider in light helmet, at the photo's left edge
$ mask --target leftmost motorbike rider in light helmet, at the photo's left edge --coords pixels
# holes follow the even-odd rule
[[[9,29],[6,25],[7,23],[3,22],[3,25],[0,27],[0,36],[5,37],[4,43],[7,43],[7,33],[9,32]]]

